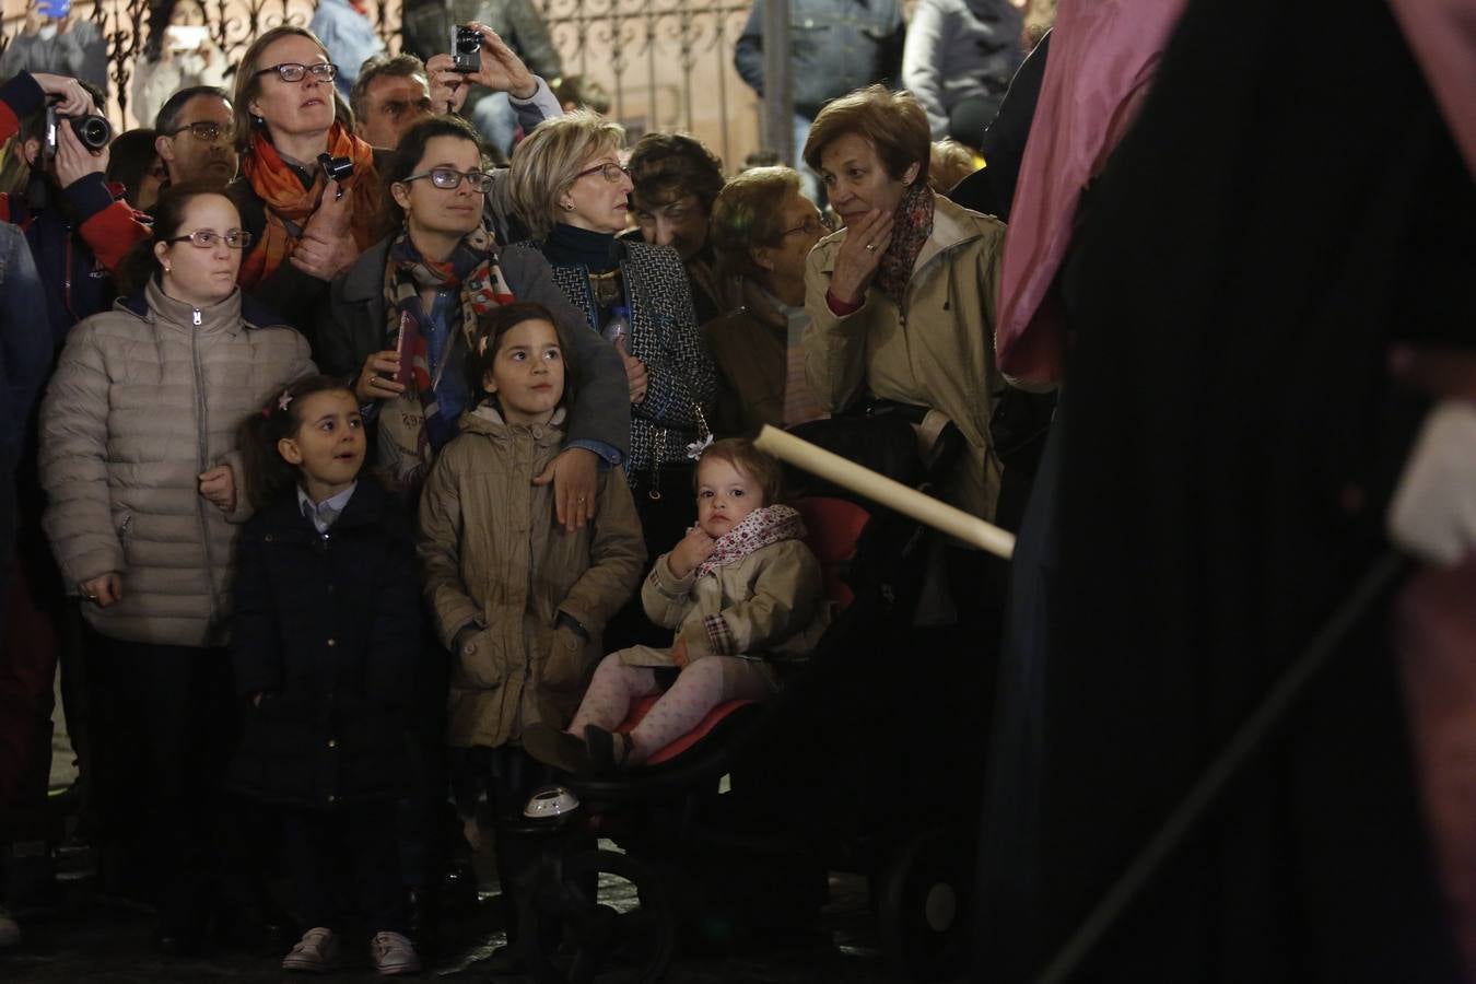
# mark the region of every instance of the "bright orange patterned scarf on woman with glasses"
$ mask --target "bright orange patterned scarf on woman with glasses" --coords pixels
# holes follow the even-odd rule
[[[353,176],[344,181],[344,193],[351,196],[348,224],[359,248],[368,249],[381,207],[379,173],[373,165],[373,148],[335,122],[334,128],[328,131],[328,152],[335,158],[350,158],[354,162]],[[241,173],[251,183],[251,189],[261,196],[267,214],[261,242],[241,264],[238,279],[241,286],[249,289],[270,277],[297,249],[307,220],[323,198],[328,179],[319,170],[313,179],[313,187],[304,190],[297,173],[272,146],[266,130],[257,130],[251,134],[251,149],[241,161]]]

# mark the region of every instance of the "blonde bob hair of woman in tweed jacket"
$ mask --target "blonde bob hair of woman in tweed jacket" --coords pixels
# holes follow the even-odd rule
[[[545,119],[523,139],[512,152],[508,195],[534,239],[543,239],[558,224],[558,199],[579,180],[584,162],[618,150],[624,140],[624,127],[587,109]]]

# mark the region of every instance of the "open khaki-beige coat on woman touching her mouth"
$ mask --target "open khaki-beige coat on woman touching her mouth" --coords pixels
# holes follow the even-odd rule
[[[937,196],[933,233],[922,245],[902,307],[875,285],[862,307],[837,316],[825,302],[847,232],[822,239],[804,271],[804,369],[831,413],[869,397],[931,407],[968,443],[943,497],[992,519],[1001,465],[989,446],[989,417],[1004,391],[995,367],[995,310],[1005,226]]]

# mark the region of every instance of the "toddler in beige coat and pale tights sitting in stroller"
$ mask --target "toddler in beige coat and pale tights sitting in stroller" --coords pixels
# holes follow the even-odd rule
[[[773,695],[784,665],[825,631],[821,567],[800,515],[778,503],[779,463],[747,440],[717,441],[697,466],[697,525],[657,558],[641,589],[646,615],[676,630],[670,648],[607,655],[567,730],[531,724],[534,758],[580,775],[642,764],[725,701]],[[632,704],[663,690],[630,732]]]

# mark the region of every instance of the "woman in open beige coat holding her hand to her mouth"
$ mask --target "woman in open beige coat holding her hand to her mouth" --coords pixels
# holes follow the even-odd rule
[[[927,114],[872,86],[815,118],[804,161],[844,229],[809,257],[806,375],[830,412],[866,398],[942,412],[967,450],[943,497],[989,519],[1001,465],[989,417],[1004,379],[993,311],[1005,226],[933,193]]]

